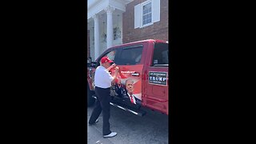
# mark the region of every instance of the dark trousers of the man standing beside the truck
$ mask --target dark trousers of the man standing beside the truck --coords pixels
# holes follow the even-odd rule
[[[103,116],[103,135],[110,134],[110,88],[100,88],[95,86],[95,94],[97,101],[93,110],[93,113],[90,115],[89,123],[94,123],[98,118],[99,114],[102,112]]]

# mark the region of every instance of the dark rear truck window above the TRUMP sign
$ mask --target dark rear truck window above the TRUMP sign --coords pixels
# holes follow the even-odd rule
[[[167,43],[155,43],[152,66],[168,66],[169,65],[169,50]]]

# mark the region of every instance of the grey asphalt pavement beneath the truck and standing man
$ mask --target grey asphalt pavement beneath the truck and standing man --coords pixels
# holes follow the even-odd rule
[[[168,143],[168,116],[152,110],[140,117],[111,106],[110,130],[117,132],[114,138],[102,137],[102,114],[99,122],[89,126],[93,106],[87,108],[87,142],[89,144],[166,144]]]

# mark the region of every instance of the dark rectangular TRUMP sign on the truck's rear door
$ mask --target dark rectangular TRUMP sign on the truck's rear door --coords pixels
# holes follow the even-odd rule
[[[167,86],[167,73],[150,71],[149,72],[149,83],[154,85]]]

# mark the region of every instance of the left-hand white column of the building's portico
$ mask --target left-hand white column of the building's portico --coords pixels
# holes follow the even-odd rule
[[[99,24],[98,24],[98,14],[93,16],[94,18],[94,58],[99,56]]]

